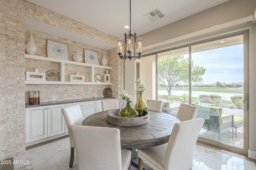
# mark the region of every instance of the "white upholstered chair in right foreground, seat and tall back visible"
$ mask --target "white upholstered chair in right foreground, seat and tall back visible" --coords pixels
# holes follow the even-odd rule
[[[138,170],[142,170],[143,161],[154,170],[191,170],[196,141],[203,124],[203,118],[175,123],[168,143],[138,149]]]

